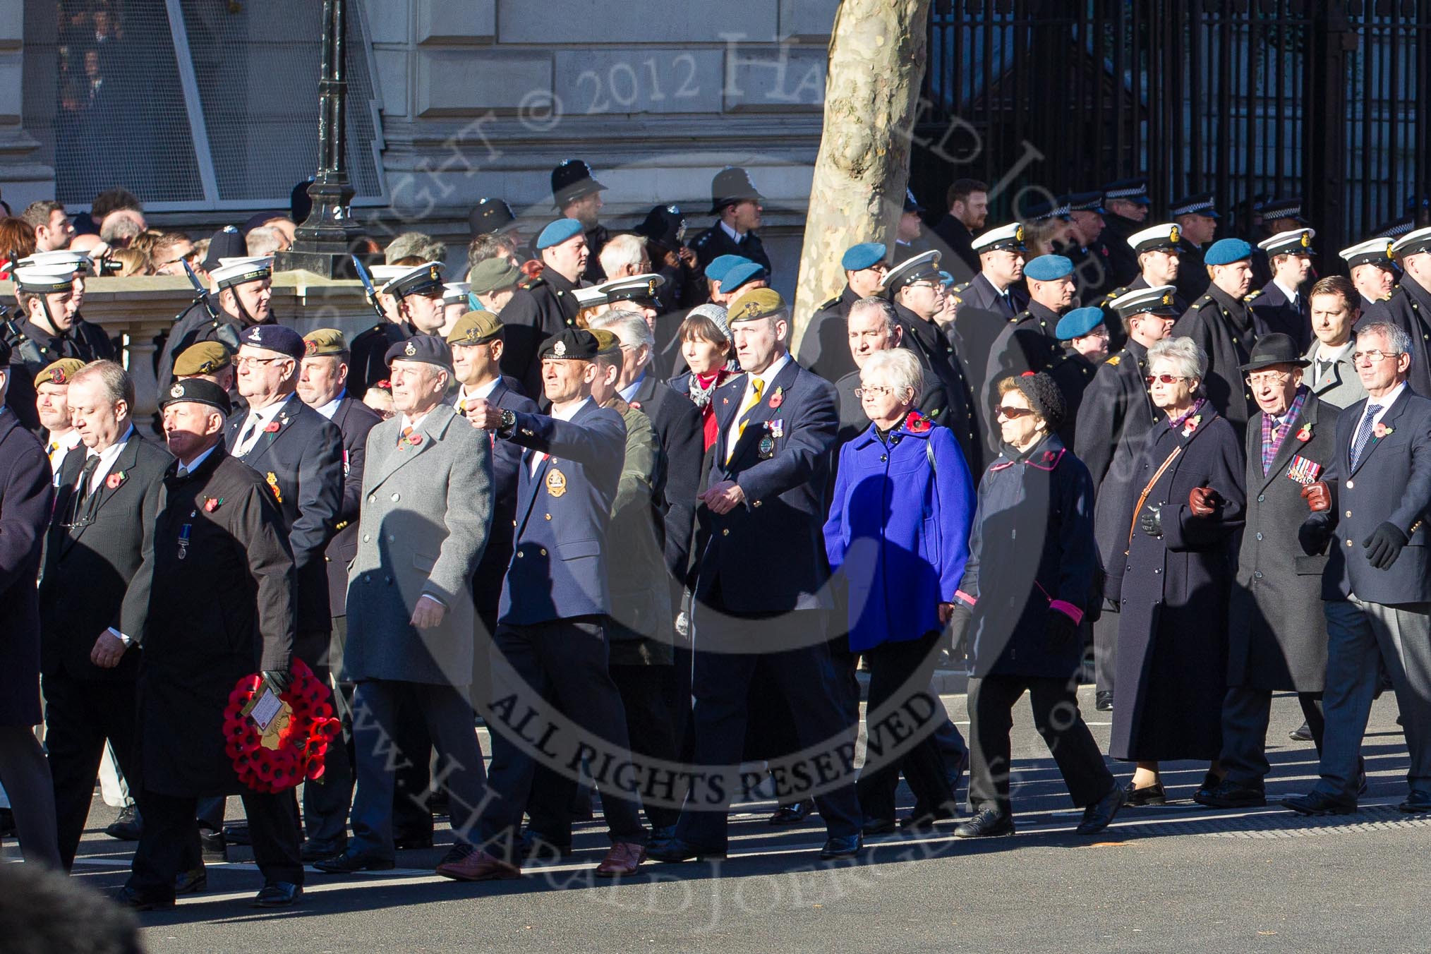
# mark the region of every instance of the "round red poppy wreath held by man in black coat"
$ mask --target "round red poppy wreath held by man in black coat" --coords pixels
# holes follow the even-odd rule
[[[260,675],[239,679],[223,709],[225,751],[239,781],[255,791],[280,792],[322,778],[328,745],[342,728],[328,687],[302,659],[293,659],[290,671],[292,685],[279,695],[283,708],[266,732],[246,714],[263,685]]]

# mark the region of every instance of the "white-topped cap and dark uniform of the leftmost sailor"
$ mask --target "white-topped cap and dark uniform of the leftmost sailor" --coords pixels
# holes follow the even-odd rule
[[[21,316],[0,325],[4,340],[10,346],[10,392],[6,403],[20,423],[31,433],[40,433],[40,415],[36,410],[34,378],[46,366],[62,358],[74,358],[89,363],[99,359],[113,359],[114,345],[97,326],[86,322],[77,313],[69,330],[56,333],[57,323],[50,316],[46,296],[57,292],[73,292],[74,279],[80,272],[73,265],[31,265],[14,270],[14,287],[40,299],[40,310],[53,326],[44,329]]]

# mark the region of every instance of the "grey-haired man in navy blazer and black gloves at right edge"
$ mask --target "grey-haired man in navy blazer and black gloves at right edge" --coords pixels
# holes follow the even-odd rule
[[[1305,815],[1357,808],[1358,757],[1385,661],[1407,732],[1411,794],[1405,812],[1431,811],[1431,400],[1407,385],[1411,336],[1387,320],[1357,330],[1357,373],[1367,399],[1337,418],[1337,455],[1325,481],[1302,495],[1307,554],[1328,548],[1327,719],[1321,781],[1282,801]]]

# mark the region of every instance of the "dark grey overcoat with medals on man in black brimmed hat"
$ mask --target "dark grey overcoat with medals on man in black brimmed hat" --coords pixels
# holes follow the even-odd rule
[[[1288,469],[1302,466],[1296,461],[1302,458],[1318,465],[1318,479],[1327,475],[1335,456],[1339,412],[1308,393],[1266,473],[1262,412],[1248,422],[1246,528],[1228,604],[1228,685],[1321,692],[1327,682],[1327,556],[1304,555],[1296,541],[1308,511],[1302,483],[1289,478]]]

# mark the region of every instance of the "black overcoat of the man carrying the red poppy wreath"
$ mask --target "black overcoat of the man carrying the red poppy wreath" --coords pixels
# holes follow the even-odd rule
[[[145,788],[176,797],[243,791],[223,751],[235,684],[288,669],[295,632],[293,552],[263,476],[222,445],[185,476],[165,473],[159,518],[130,588],[122,632],[139,661]],[[147,596],[147,599],[145,599]]]

